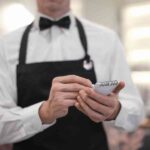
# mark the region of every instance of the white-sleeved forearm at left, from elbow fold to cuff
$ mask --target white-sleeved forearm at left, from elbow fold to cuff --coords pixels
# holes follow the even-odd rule
[[[40,105],[38,103],[23,109],[0,107],[0,144],[25,140],[52,125],[42,125],[38,113]]]

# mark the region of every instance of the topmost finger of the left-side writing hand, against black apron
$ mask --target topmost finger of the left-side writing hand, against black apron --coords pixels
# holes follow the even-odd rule
[[[76,75],[67,75],[67,76],[60,76],[56,77],[53,80],[54,82],[61,82],[61,83],[78,83],[84,86],[92,87],[92,82],[89,79],[76,76]]]

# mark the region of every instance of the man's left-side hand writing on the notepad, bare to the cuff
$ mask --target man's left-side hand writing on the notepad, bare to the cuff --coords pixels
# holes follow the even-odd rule
[[[52,123],[57,118],[66,116],[68,108],[77,102],[79,91],[86,91],[90,87],[92,87],[91,81],[79,76],[68,75],[54,78],[49,98],[39,109],[42,123]]]

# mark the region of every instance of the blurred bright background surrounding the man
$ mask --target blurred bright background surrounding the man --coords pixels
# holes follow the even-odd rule
[[[145,103],[146,119],[134,133],[105,124],[110,149],[150,150],[150,0],[72,0],[72,10],[118,33],[133,81]],[[29,24],[35,13],[35,0],[0,0],[0,36]],[[0,146],[0,150],[10,148]]]

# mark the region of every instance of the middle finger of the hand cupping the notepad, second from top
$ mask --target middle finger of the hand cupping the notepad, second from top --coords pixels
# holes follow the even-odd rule
[[[112,114],[111,107],[105,106],[103,104],[98,103],[97,101],[89,98],[88,96],[86,97],[85,92],[81,91],[80,96],[83,99],[83,101],[94,111],[103,114],[104,116],[109,116]]]

